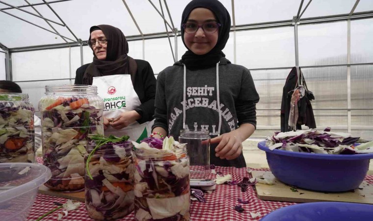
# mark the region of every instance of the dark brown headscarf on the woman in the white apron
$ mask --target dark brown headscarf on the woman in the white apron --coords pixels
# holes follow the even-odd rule
[[[93,77],[107,75],[131,74],[133,79],[137,72],[137,64],[132,57],[127,55],[128,42],[123,32],[119,28],[109,25],[99,25],[92,26],[89,33],[98,29],[102,30],[107,39],[106,59],[97,59],[95,52],[93,52],[93,62],[84,72],[83,84],[91,85]],[[91,35],[89,34],[88,41],[90,40]]]

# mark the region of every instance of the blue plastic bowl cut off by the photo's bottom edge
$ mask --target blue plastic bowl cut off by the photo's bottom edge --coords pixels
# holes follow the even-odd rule
[[[372,219],[373,205],[315,202],[277,209],[260,221],[371,221]]]

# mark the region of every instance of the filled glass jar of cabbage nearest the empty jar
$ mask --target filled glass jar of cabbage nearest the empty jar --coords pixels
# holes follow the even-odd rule
[[[147,220],[189,220],[190,186],[187,148],[164,154],[134,153],[134,218]]]

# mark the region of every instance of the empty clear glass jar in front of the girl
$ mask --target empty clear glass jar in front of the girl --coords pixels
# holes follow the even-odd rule
[[[190,158],[190,178],[206,179],[210,174],[210,136],[208,130],[180,130],[180,143],[187,144]]]

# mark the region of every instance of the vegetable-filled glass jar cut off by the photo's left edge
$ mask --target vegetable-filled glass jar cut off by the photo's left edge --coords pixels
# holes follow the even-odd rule
[[[28,95],[0,93],[0,163],[34,163],[34,139],[34,108]]]

